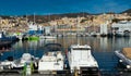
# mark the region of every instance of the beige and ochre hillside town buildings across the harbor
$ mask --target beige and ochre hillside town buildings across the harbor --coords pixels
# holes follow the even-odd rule
[[[79,16],[79,15],[76,15]],[[48,15],[47,22],[39,23],[39,17],[33,15],[32,20],[28,16],[9,16],[9,17],[0,17],[0,29],[7,30],[9,33],[25,33],[28,29],[29,23],[35,23],[41,27],[56,27],[57,31],[76,31],[78,28],[78,17],[68,17],[63,16],[57,20],[50,20],[51,15]],[[35,22],[37,21],[37,22]],[[99,33],[100,25],[107,24],[108,29],[112,24],[118,23],[120,21],[131,21],[131,15],[128,13],[115,14],[115,13],[104,13],[98,15],[84,15],[79,16],[79,30],[86,33]],[[55,29],[53,29],[55,30]]]

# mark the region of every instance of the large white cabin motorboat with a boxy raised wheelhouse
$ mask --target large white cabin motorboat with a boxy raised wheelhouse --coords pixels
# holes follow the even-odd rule
[[[71,73],[79,71],[79,74],[83,74],[83,69],[86,73],[98,73],[98,64],[91,52],[91,47],[87,45],[72,45],[69,48],[68,60]]]

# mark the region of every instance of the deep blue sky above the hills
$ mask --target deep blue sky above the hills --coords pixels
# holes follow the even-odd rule
[[[0,15],[120,13],[128,9],[131,9],[130,0],[0,0]]]

